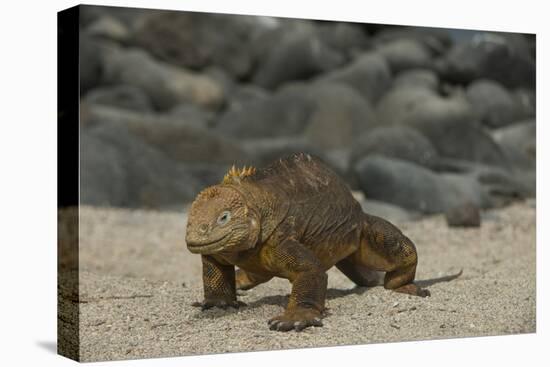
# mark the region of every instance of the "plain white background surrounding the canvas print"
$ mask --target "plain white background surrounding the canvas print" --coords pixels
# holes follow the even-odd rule
[[[94,4],[537,33],[537,334],[116,362],[117,366],[542,365],[549,342],[549,26],[543,1],[92,1]],[[363,3],[363,4],[361,4]],[[0,365],[73,365],[56,340],[56,12],[74,1],[4,2]],[[513,72],[513,71],[511,71]],[[541,163],[546,162],[546,163]],[[543,213],[541,215],[541,213]],[[545,266],[546,265],[546,269]],[[543,289],[546,288],[544,292]],[[543,310],[546,309],[546,312]],[[548,348],[548,347],[546,347]],[[96,365],[115,365],[98,363]]]

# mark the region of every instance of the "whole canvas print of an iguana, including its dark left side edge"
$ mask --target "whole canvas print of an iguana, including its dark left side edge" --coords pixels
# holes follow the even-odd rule
[[[58,25],[59,354],[536,332],[534,34]]]

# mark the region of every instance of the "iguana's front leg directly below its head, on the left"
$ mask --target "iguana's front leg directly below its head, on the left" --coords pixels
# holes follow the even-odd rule
[[[237,301],[235,290],[235,267],[220,264],[211,256],[202,255],[202,281],[204,301],[195,302],[193,306],[203,310],[211,307],[235,307],[244,305]]]

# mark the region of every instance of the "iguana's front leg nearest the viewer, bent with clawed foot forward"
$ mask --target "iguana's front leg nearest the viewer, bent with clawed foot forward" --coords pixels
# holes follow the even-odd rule
[[[275,274],[292,283],[285,312],[269,320],[269,328],[299,331],[308,326],[322,326],[327,274],[315,255],[300,242],[290,239],[267,247],[262,258]]]

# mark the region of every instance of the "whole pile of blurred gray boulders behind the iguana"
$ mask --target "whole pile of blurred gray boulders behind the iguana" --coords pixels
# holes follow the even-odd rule
[[[534,37],[457,32],[83,6],[81,202],[178,208],[298,151],[411,213],[534,196]]]

